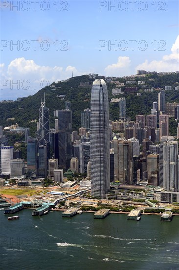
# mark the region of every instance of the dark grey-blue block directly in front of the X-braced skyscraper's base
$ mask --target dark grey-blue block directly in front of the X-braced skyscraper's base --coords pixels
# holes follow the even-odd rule
[[[37,152],[37,178],[45,178],[47,177],[47,145],[38,145]]]

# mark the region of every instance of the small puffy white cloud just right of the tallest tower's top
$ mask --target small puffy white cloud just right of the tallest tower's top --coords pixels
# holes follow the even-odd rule
[[[105,68],[106,76],[125,76],[130,74],[131,60],[126,56],[119,56],[116,64],[108,65]]]

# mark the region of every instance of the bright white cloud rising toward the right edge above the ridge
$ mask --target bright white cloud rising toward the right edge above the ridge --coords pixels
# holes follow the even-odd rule
[[[148,70],[157,72],[170,72],[179,70],[179,36],[177,37],[175,43],[172,45],[171,54],[164,55],[161,60],[153,60],[149,62],[145,60],[144,63],[139,64],[136,70]]]

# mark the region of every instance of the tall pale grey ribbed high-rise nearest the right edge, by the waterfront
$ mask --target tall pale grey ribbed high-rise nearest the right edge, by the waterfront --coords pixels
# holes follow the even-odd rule
[[[163,188],[165,191],[177,192],[177,141],[163,143]]]

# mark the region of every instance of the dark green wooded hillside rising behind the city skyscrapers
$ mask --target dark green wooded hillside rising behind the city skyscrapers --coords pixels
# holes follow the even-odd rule
[[[101,78],[101,76],[96,76],[96,78]],[[71,102],[73,115],[73,130],[77,130],[81,126],[81,112],[86,108],[90,108],[91,85],[94,79],[95,78],[89,77],[89,75],[73,77],[68,80],[52,83],[50,86],[46,86],[45,88],[39,90],[33,96],[21,98],[19,101],[10,103],[1,102],[0,125],[4,127],[18,123],[18,125],[21,127],[30,128],[30,135],[34,136],[36,131],[36,121],[38,121],[38,109],[40,107],[41,94],[44,97],[45,93],[45,106],[50,109],[50,128],[54,128],[55,126],[53,111],[64,109],[65,101],[69,100]],[[129,78],[113,77],[112,80],[119,81],[125,85],[126,81],[129,81]],[[172,90],[166,91],[166,102],[176,101],[179,103],[179,90],[173,90],[179,85],[179,74],[147,74],[145,77],[136,76],[134,80],[136,81],[136,84],[125,85],[124,87],[120,88],[123,91],[127,86],[138,87],[138,92],[141,93],[141,96],[137,96],[136,93],[124,93],[113,96],[112,89],[119,87],[117,87],[115,83],[107,83],[109,101],[112,98],[125,97],[127,105],[126,114],[127,117],[131,117],[132,120],[135,120],[135,115],[137,114],[150,114],[153,102],[158,101],[159,91],[154,90],[153,92],[144,92],[144,87],[142,88],[141,85],[138,85],[138,81],[144,80],[145,88],[154,87],[155,89],[165,89],[165,86],[167,85],[172,86]],[[111,120],[114,121],[119,118],[118,103],[109,103],[109,113]],[[8,118],[15,119],[7,121]]]

